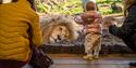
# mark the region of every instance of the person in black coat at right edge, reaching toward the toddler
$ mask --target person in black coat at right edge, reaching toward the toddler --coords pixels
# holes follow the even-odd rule
[[[136,52],[136,0],[123,0],[124,4],[124,23],[121,27],[115,24],[108,24],[110,33],[121,38],[128,47]],[[135,39],[134,39],[135,38]],[[136,63],[129,66],[136,67]]]

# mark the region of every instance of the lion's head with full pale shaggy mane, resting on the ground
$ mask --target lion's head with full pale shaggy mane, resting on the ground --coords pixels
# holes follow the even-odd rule
[[[69,16],[49,15],[46,21],[40,23],[45,43],[71,42],[76,39],[74,21]]]

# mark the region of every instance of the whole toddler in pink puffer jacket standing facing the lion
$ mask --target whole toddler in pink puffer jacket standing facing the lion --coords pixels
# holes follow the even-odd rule
[[[75,21],[84,26],[85,33],[85,59],[99,57],[101,49],[101,15],[98,13],[98,8],[95,0],[83,1],[84,13]]]

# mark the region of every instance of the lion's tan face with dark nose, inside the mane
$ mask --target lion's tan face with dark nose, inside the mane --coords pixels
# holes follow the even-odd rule
[[[67,41],[70,36],[69,29],[65,26],[55,26],[50,35],[50,43]]]

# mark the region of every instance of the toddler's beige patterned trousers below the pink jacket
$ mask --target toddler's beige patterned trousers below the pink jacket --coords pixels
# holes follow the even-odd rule
[[[87,33],[85,37],[85,53],[90,56],[99,55],[101,50],[101,35],[100,33]]]

